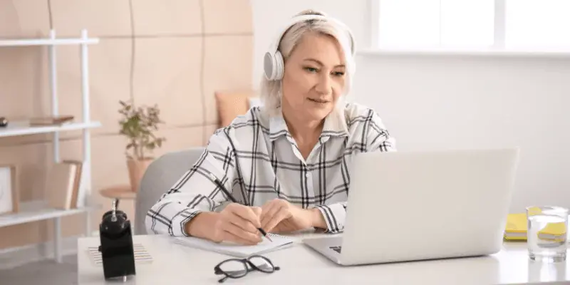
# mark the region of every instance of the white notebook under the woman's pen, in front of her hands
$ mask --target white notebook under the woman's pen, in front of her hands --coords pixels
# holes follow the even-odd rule
[[[276,250],[289,247],[294,242],[294,239],[291,237],[284,237],[279,234],[268,235],[273,242],[263,238],[262,242],[256,245],[239,245],[229,242],[221,242],[218,244],[207,239],[199,239],[197,237],[177,237],[175,242],[177,244],[204,249],[210,252],[227,254],[233,257],[249,257],[254,254],[266,254],[267,252],[274,252]]]

